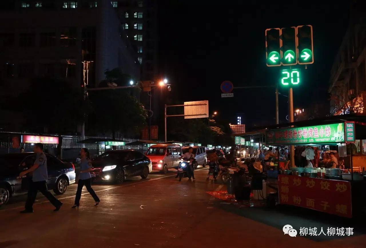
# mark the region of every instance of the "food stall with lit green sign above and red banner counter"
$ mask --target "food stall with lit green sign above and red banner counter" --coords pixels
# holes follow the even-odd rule
[[[317,146],[333,145],[342,147],[355,142],[354,121],[329,120],[308,126],[295,125],[266,131],[266,145]],[[358,123],[363,126],[363,123]],[[364,129],[365,127],[361,127]],[[363,131],[362,131],[363,132]],[[312,149],[307,147],[307,149]],[[352,152],[347,170],[337,168],[304,168],[295,164],[290,170],[282,170],[278,175],[277,187],[279,203],[310,208],[351,218],[364,211],[362,198],[365,195],[365,180],[361,171],[353,171]],[[365,166],[366,167],[366,164]],[[348,169],[350,172],[348,174]],[[357,173],[357,177],[355,177]]]

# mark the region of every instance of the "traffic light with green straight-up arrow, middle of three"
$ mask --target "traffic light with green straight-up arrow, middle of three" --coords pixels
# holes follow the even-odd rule
[[[297,64],[296,27],[281,28],[281,59],[284,66]]]

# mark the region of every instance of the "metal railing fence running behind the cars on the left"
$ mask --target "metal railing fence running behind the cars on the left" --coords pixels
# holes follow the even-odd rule
[[[28,134],[28,135],[44,135],[44,136],[57,136],[57,134],[40,134],[40,133],[25,133],[25,132],[0,132],[0,134],[3,134],[3,138],[0,139],[0,148],[12,148],[12,136],[14,135],[22,135],[22,134]],[[4,136],[7,136],[6,138]],[[78,141],[81,141],[81,136],[74,136],[74,135],[61,135],[62,137],[62,149],[81,149],[82,145],[81,143],[78,143]],[[85,139],[87,138],[100,138],[100,139],[108,139],[112,137],[103,137],[103,136],[85,136]],[[139,139],[133,139],[133,138],[116,138],[116,141],[125,141],[126,144],[134,142],[134,141],[142,141],[147,142],[147,140],[139,140]],[[155,141],[156,143],[162,143],[164,141]],[[21,143],[21,147],[24,149],[33,149],[33,146],[30,143]],[[51,148],[57,148],[57,144],[47,144],[47,147]],[[98,149],[98,143],[92,143],[92,144],[84,144],[84,147],[90,150]],[[141,150],[146,151],[147,147],[145,145],[121,145],[119,146],[120,149],[135,149],[135,150]]]

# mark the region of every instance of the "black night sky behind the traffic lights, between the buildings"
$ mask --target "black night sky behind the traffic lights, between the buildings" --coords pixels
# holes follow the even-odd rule
[[[330,68],[346,31],[349,1],[288,2],[159,1],[160,73],[172,84],[167,97],[175,103],[209,100],[210,112],[218,111],[226,123],[235,123],[236,113],[244,113],[244,124],[249,126],[274,124],[274,89],[236,89],[234,99],[221,99],[220,84],[224,80],[234,86],[276,84],[279,70],[285,68],[266,66],[265,29],[310,24],[314,64],[307,70],[301,66],[302,85],[294,89],[294,107],[327,101]],[[288,95],[287,90],[280,92]],[[279,101],[284,122],[287,97],[280,96]]]

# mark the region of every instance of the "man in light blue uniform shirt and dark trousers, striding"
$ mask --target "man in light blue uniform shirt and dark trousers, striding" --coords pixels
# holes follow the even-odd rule
[[[47,189],[47,158],[43,153],[43,144],[37,143],[33,147],[33,151],[37,154],[36,161],[30,169],[22,171],[19,176],[22,177],[27,173],[33,172],[33,177],[30,180],[27,201],[25,203],[24,213],[33,213],[33,203],[36,200],[38,190],[55,206],[54,211],[59,211],[62,202],[57,200]]]

